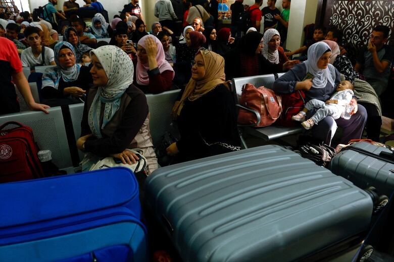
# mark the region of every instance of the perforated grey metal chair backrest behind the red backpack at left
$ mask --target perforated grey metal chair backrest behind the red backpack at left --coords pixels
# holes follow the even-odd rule
[[[49,114],[40,111],[25,111],[0,115],[0,124],[17,121],[33,129],[34,139],[40,150],[51,150],[52,161],[59,168],[72,166],[70,150],[61,107],[48,109]]]

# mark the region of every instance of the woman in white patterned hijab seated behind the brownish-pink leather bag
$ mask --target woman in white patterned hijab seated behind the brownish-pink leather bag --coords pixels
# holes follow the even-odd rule
[[[280,46],[280,34],[272,28],[264,33],[262,54],[262,72],[264,75],[285,72],[300,62],[287,58],[283,47]]]

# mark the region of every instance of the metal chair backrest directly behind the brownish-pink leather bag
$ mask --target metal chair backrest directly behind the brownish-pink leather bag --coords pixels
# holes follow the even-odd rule
[[[233,78],[231,80],[232,91],[234,93],[235,102],[238,103],[242,94],[242,86],[245,84],[253,84],[255,87],[264,86],[266,88],[271,88],[272,84],[275,81],[275,77],[273,74],[270,75],[261,75],[261,76],[253,76],[253,77],[240,77]]]

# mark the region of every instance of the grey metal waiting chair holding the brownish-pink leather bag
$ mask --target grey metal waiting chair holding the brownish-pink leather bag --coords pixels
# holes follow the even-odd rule
[[[282,76],[283,73],[278,74],[278,76]],[[255,87],[265,86],[266,88],[272,88],[272,85],[275,81],[275,77],[273,74],[270,75],[262,75],[262,76],[253,76],[253,77],[242,77],[242,78],[233,78],[232,79],[232,90],[234,92],[234,99],[238,107],[243,108],[245,110],[249,110],[256,114],[256,118],[260,119],[260,113],[252,110],[250,108],[244,107],[243,105],[239,105],[238,101],[242,94],[242,86],[248,83],[253,84]],[[294,134],[299,134],[302,132],[302,127],[287,127],[287,126],[279,126],[279,125],[270,125],[265,127],[253,127],[251,126],[242,126],[244,132],[258,138],[262,138],[265,141],[279,139],[285,136],[290,136]],[[242,139],[242,138],[241,138]],[[247,147],[242,141],[244,147]]]

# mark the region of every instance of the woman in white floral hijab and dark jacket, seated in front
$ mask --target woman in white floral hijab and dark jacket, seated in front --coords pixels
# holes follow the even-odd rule
[[[119,47],[106,45],[90,51],[93,84],[82,115],[77,147],[88,153],[82,160],[88,170],[100,157],[115,157],[124,164],[138,157],[126,149],[139,148],[147,159],[147,173],[157,159],[149,130],[146,97],[133,83],[133,63]]]

